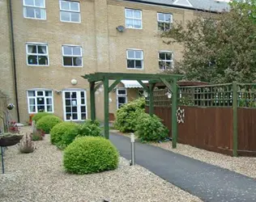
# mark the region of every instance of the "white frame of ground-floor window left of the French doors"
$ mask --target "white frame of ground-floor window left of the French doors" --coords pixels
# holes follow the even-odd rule
[[[35,96],[29,96],[28,95],[28,91],[35,91]],[[43,95],[37,95],[37,92],[38,91],[42,91],[43,92]],[[45,91],[51,91],[52,92],[52,96],[45,96]],[[53,98],[53,90],[51,89],[29,89],[27,90],[27,100],[28,100],[28,113],[29,114],[36,114],[38,113],[38,109],[37,109],[37,98],[42,98],[42,99],[45,99],[45,111],[44,112],[48,112],[47,111],[47,102],[46,102],[46,99],[52,99],[52,112],[48,112],[48,113],[54,113],[54,98]],[[30,101],[29,99],[35,99],[35,108],[36,108],[36,112],[30,112]]]

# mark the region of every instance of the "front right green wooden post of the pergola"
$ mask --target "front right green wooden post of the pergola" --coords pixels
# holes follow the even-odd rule
[[[172,147],[177,147],[177,78],[173,78],[172,82]]]

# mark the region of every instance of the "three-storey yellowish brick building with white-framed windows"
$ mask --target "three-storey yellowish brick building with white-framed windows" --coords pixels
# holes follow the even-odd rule
[[[160,73],[182,57],[160,32],[202,11],[218,13],[215,0],[0,0],[0,90],[15,103],[11,118],[28,122],[40,111],[63,120],[90,117],[88,83],[94,72]],[[102,88],[96,116],[103,119]],[[141,93],[122,81],[110,92],[109,111]]]

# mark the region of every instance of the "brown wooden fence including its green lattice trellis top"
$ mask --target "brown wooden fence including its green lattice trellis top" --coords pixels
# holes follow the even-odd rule
[[[166,89],[155,90],[154,113],[171,137],[172,103],[167,95]],[[256,156],[256,84],[189,86],[180,88],[178,97],[178,107],[185,110],[184,123],[177,127],[178,143],[221,154],[234,155],[235,150],[240,156]]]

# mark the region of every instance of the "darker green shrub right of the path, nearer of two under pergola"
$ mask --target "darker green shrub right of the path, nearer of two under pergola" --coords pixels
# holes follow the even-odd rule
[[[158,116],[143,113],[137,121],[135,135],[140,141],[165,141],[168,138],[169,129]]]

